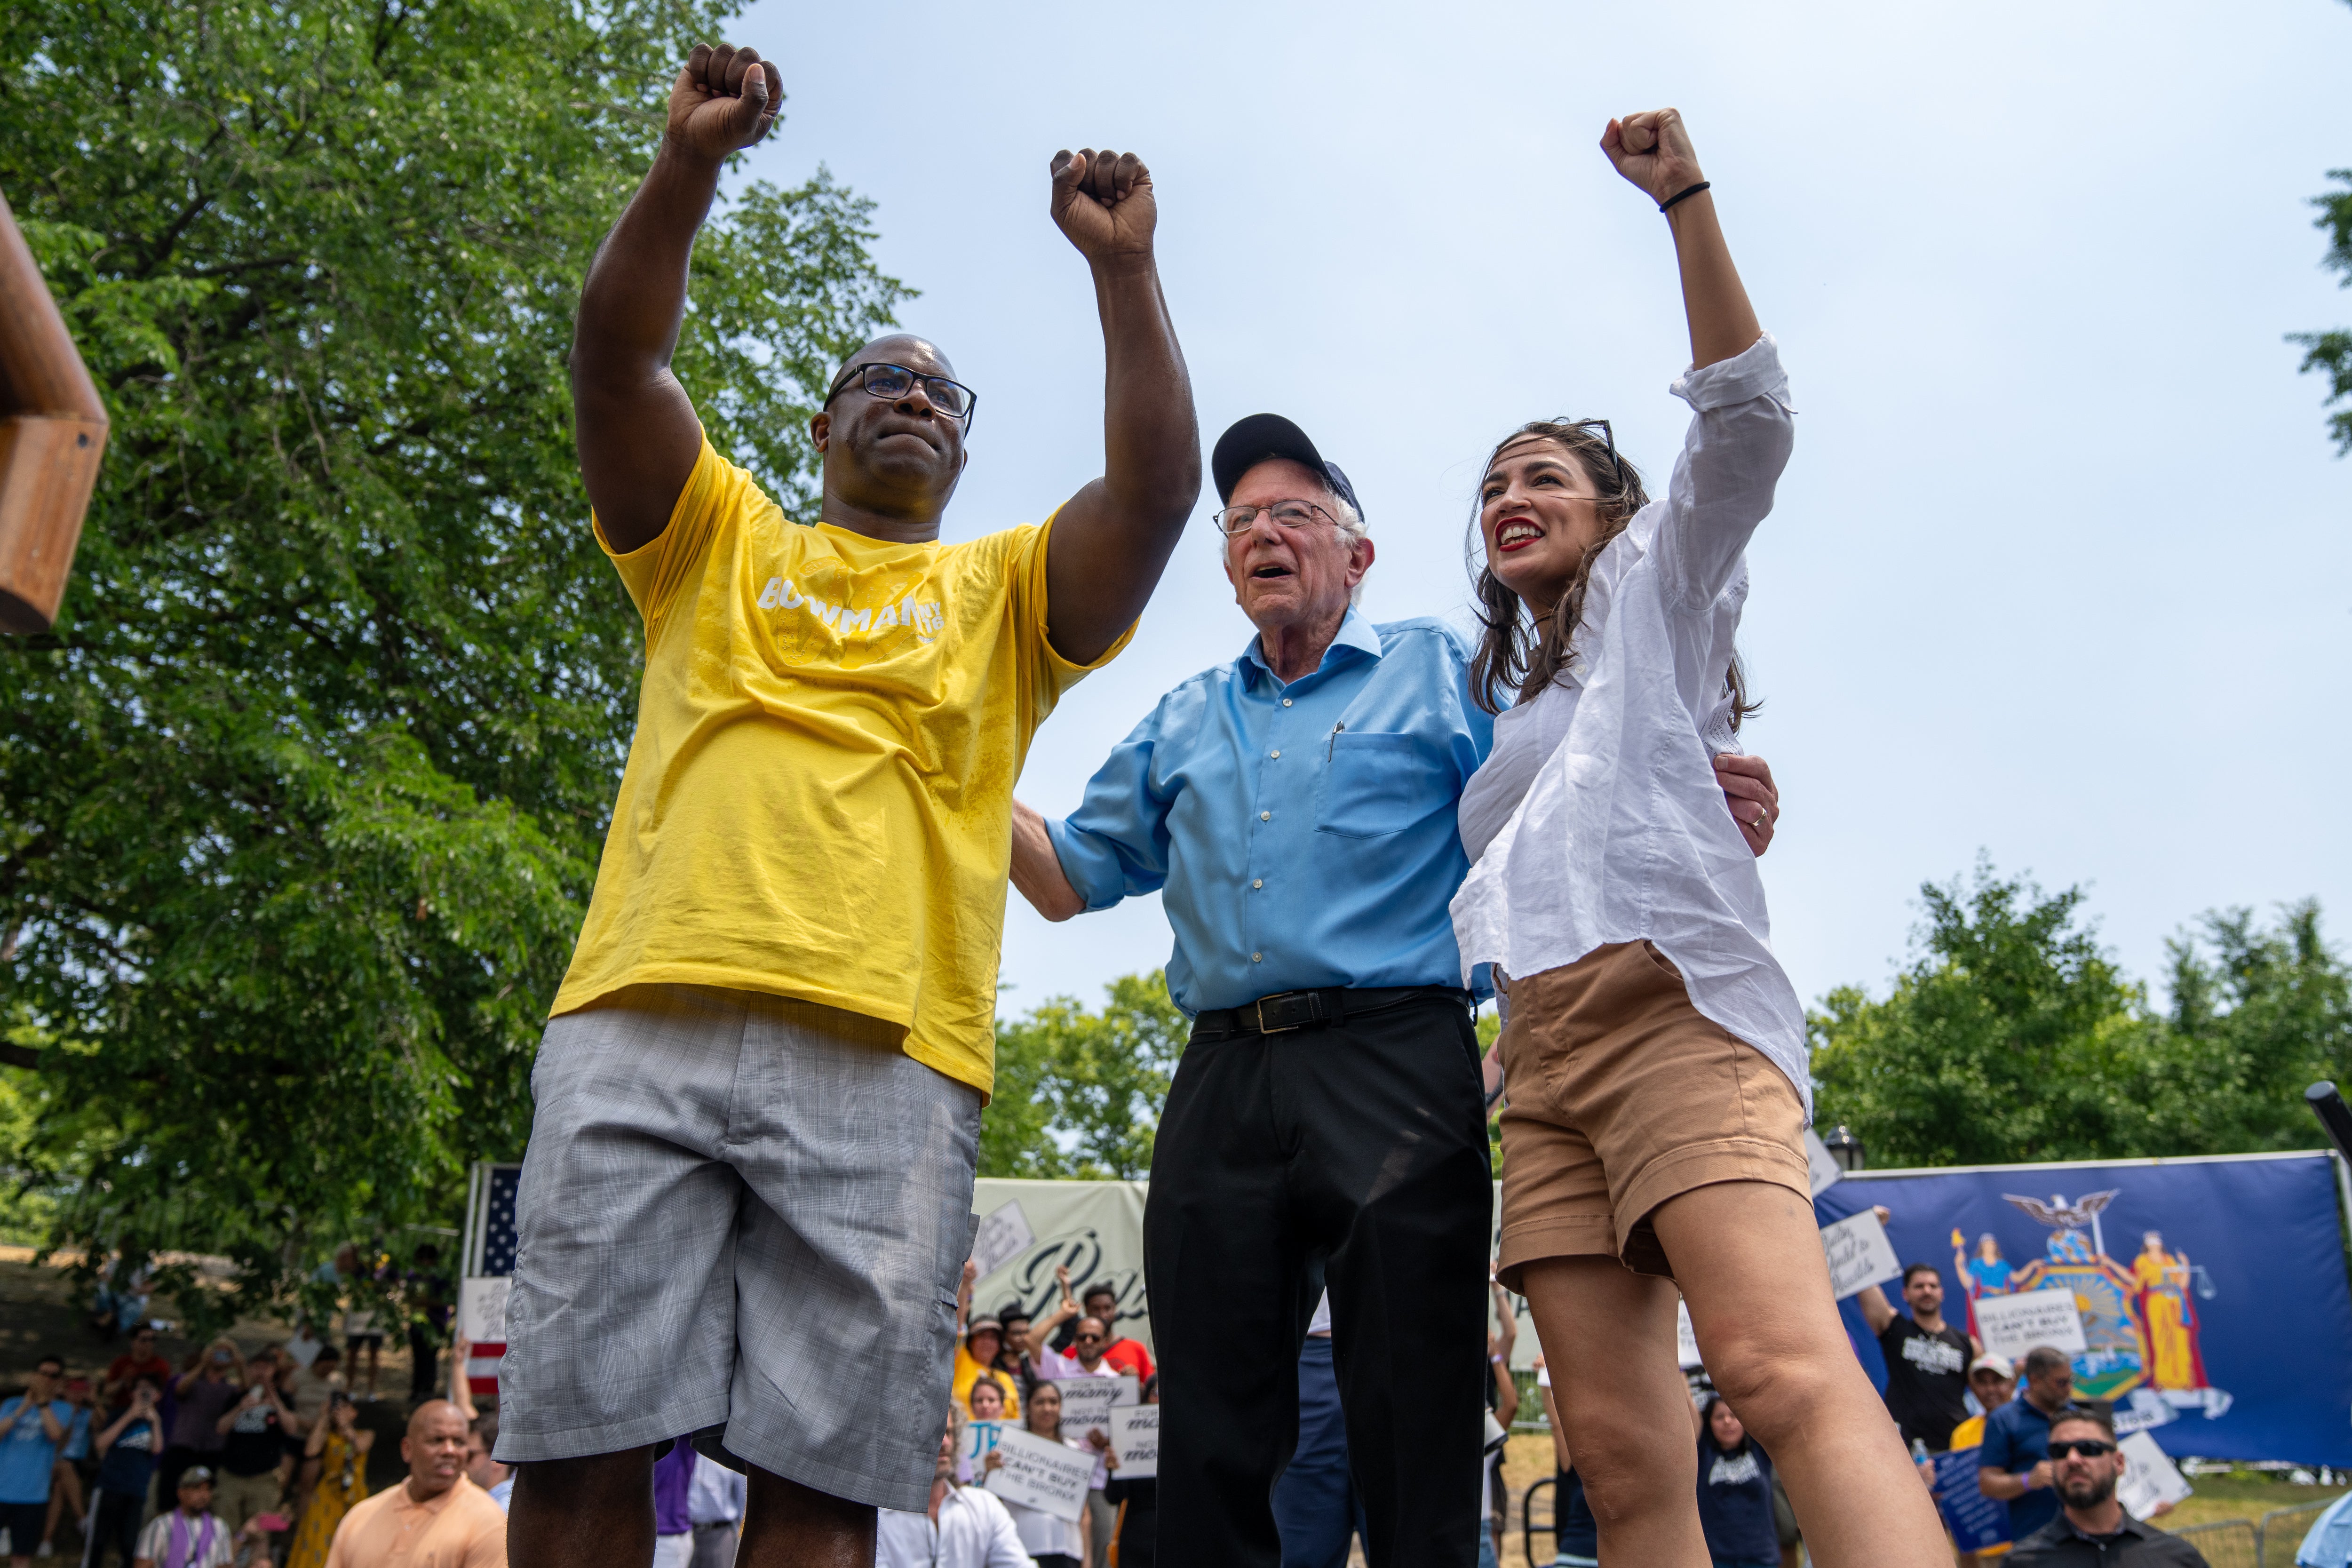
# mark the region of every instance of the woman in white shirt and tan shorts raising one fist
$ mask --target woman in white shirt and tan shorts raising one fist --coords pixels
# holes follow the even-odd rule
[[[1508,978],[1501,1279],[1529,1298],[1602,1556],[1703,1568],[1677,1286],[1825,1568],[1943,1561],[1936,1512],[1846,1347],[1802,1150],[1804,1009],[1773,961],[1712,755],[1748,712],[1731,637],[1792,409],[1682,118],[1602,150],[1668,214],[1696,418],[1663,501],[1609,425],[1534,423],[1479,484],[1496,719],[1461,802],[1465,971]],[[1769,830],[1750,823],[1750,837]]]

